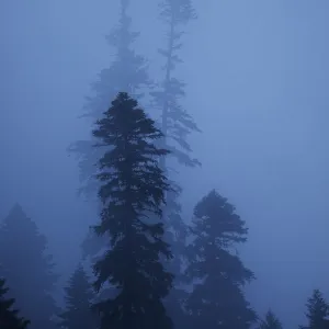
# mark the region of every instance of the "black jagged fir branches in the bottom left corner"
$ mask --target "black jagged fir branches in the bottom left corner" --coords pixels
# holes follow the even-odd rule
[[[30,321],[19,316],[19,311],[13,309],[15,299],[7,298],[8,287],[0,279],[0,328],[1,329],[25,329]]]

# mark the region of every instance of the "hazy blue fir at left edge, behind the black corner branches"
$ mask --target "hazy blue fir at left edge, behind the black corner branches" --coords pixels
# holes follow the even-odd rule
[[[0,263],[10,297],[31,320],[30,328],[56,328],[52,319],[58,309],[52,294],[57,275],[47,252],[47,239],[19,204],[0,226]]]

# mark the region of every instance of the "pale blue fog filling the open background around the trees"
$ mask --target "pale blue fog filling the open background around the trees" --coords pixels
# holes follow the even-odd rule
[[[49,238],[63,282],[95,220],[67,149],[89,134],[78,117],[111,65],[116,2],[0,2],[0,216],[23,206]],[[314,288],[329,296],[329,3],[194,2],[178,75],[202,129],[190,139],[202,168],[180,169],[184,217],[212,189],[236,205],[250,229],[241,254],[257,276],[248,298],[293,328]],[[157,3],[134,1],[129,14],[136,52],[157,77]]]

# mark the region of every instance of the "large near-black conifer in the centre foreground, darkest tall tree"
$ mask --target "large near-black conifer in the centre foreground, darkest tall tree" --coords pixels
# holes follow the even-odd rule
[[[95,232],[110,236],[109,250],[94,265],[95,287],[110,282],[118,291],[95,305],[101,328],[172,328],[162,305],[172,275],[160,262],[160,254],[171,257],[161,223],[169,185],[158,164],[168,151],[154,144],[162,134],[122,92],[97,122],[93,136],[99,147],[107,147],[99,162],[103,209]]]

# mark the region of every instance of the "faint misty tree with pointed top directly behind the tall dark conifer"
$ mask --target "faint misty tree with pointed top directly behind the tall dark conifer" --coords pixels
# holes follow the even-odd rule
[[[132,18],[128,14],[131,0],[118,1],[121,4],[118,23],[106,38],[114,53],[109,57],[114,59],[109,68],[101,70],[98,81],[92,83],[92,94],[87,98],[82,115],[92,123],[103,114],[120,91],[126,91],[140,100],[145,90],[151,86],[147,60],[134,50],[139,33],[132,30]],[[94,139],[91,136],[90,139],[78,140],[69,147],[69,151],[75,154],[79,161],[80,192],[89,201],[97,198],[99,182],[94,175],[94,166],[103,151],[101,148],[93,148],[93,144]],[[99,209],[98,200],[95,202]],[[104,247],[105,240],[105,236],[103,239],[97,238],[93,230],[90,230],[81,246],[84,257],[93,258]]]

